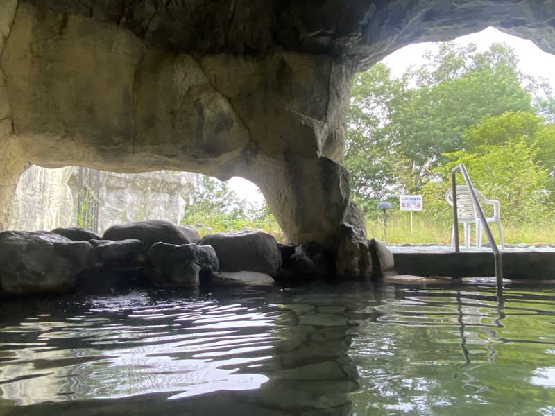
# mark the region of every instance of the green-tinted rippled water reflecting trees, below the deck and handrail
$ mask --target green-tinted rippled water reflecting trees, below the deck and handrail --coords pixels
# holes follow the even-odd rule
[[[363,322],[355,414],[550,414],[555,293],[398,288]],[[551,410],[549,410],[551,409]]]

